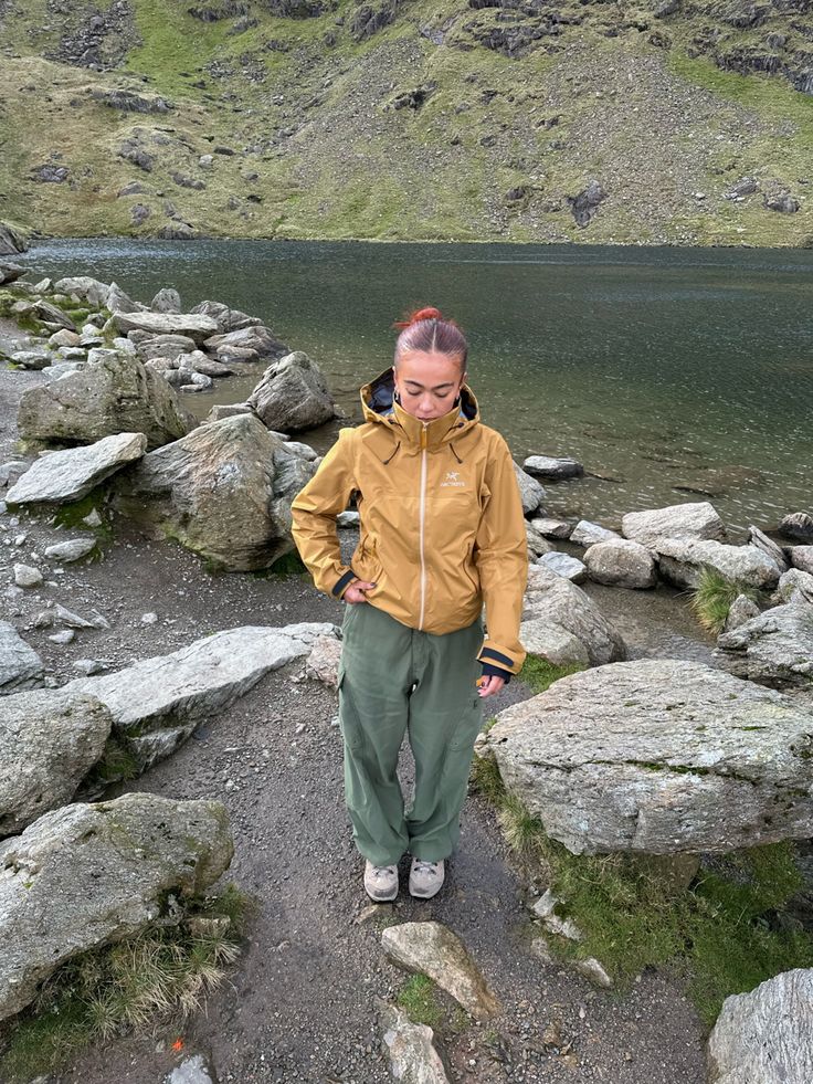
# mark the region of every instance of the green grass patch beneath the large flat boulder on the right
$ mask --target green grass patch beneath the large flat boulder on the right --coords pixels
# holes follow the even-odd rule
[[[529,878],[547,882],[564,901],[557,913],[584,934],[548,938],[563,958],[594,956],[621,986],[645,967],[672,968],[709,1025],[729,994],[813,966],[813,935],[775,920],[801,887],[791,842],[707,859],[686,887],[685,855],[571,854],[506,791],[493,757],[475,760],[472,781]]]

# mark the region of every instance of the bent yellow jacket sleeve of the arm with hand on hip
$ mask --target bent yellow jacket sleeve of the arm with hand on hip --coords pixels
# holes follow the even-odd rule
[[[339,431],[338,441],[291,505],[292,534],[299,556],[316,587],[337,599],[356,579],[353,570],[341,564],[336,534],[336,517],[356,488],[352,434],[351,429]]]

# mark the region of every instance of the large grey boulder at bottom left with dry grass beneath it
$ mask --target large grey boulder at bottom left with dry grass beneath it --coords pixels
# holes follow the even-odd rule
[[[61,964],[165,917],[168,893],[202,893],[233,850],[220,802],[157,794],[66,806],[0,843],[0,1020]]]

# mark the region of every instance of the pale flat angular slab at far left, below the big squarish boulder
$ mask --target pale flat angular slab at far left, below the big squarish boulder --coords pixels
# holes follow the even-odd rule
[[[144,433],[117,433],[95,444],[67,448],[35,460],[6,495],[15,504],[59,504],[80,501],[101,482],[120,471],[147,450]]]

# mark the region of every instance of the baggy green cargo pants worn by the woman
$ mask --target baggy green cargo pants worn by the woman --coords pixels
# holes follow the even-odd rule
[[[455,848],[483,720],[475,687],[482,644],[479,620],[437,636],[369,602],[347,606],[339,666],[345,800],[356,846],[373,865],[394,865],[404,851],[436,862]],[[397,772],[404,734],[415,759],[406,810]]]

